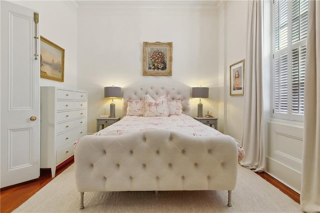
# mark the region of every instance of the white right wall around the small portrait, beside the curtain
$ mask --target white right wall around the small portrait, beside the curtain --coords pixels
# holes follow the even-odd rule
[[[244,96],[230,96],[230,65],[245,59],[247,32],[247,1],[222,1],[219,10],[219,116],[223,116],[223,133],[239,143],[243,134]],[[245,73],[244,73],[245,74]],[[223,77],[222,77],[223,76]],[[222,91],[223,89],[223,91]]]

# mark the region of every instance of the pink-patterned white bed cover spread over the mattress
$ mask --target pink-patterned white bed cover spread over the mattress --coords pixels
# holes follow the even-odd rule
[[[185,114],[167,117],[124,116],[116,123],[95,132],[94,135],[120,135],[154,128],[176,130],[194,136],[223,135],[214,128]],[[240,162],[244,157],[244,150],[239,144],[237,145],[238,162]]]

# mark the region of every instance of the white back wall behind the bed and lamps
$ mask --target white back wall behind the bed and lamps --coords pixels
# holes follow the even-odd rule
[[[88,132],[109,112],[104,86],[139,84],[208,86],[204,113],[218,114],[218,16],[215,2],[100,2],[79,5],[78,88],[88,91]],[[142,76],[142,42],[173,42],[172,76]],[[121,100],[114,100],[123,116]],[[198,98],[191,99],[196,115]]]

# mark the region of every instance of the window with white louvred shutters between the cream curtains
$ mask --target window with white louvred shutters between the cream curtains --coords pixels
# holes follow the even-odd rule
[[[273,3],[273,117],[303,119],[307,0]]]

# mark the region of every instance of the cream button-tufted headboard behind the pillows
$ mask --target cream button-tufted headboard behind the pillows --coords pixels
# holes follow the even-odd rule
[[[173,87],[161,85],[144,85],[140,87],[126,87],[122,89],[123,110],[126,112],[127,100],[143,100],[146,94],[153,99],[158,98],[162,94],[168,94],[168,100],[182,99],[182,113],[188,114],[190,111],[190,88]]]

